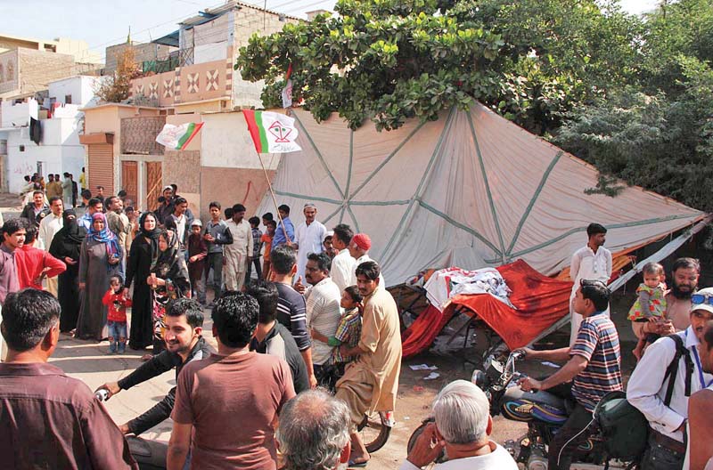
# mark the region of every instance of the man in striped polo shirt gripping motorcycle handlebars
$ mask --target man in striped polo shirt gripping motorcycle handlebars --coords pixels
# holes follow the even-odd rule
[[[551,351],[523,348],[527,359],[568,361],[560,370],[544,380],[530,377],[520,379],[524,391],[547,390],[556,385],[570,388],[569,396],[575,402],[569,419],[561,427],[548,450],[550,470],[570,468],[572,454],[579,443],[586,441],[586,427],[592,422],[592,413],[604,395],[622,390],[619,355],[619,335],[614,323],[603,312],[609,306],[609,289],[600,280],[582,280],[574,298],[575,312],[584,320],[577,339],[571,346]],[[571,384],[570,384],[571,381]]]

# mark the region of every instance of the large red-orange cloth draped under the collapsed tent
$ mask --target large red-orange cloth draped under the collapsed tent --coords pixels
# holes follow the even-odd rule
[[[489,294],[455,296],[444,312],[430,305],[402,334],[404,357],[426,350],[459,305],[466,307],[469,315],[477,314],[511,350],[529,344],[570,312],[572,283],[569,280],[548,278],[522,260],[496,269],[512,289],[510,301],[517,310]]]

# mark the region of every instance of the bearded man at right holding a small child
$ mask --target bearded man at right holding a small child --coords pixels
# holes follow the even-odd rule
[[[650,333],[665,336],[684,331],[691,325],[691,296],[698,288],[701,264],[693,258],[678,258],[671,270],[671,288],[666,293],[666,317],[655,322],[632,321],[636,337]]]

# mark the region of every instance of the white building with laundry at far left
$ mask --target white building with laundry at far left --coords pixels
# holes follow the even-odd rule
[[[51,82],[48,98],[0,103],[0,161],[2,182],[9,192],[19,192],[27,174],[73,174],[78,181],[85,166],[85,149],[79,142],[84,113],[94,102],[99,77],[70,77]],[[42,109],[44,108],[44,109]],[[31,137],[30,120],[37,119],[39,139]]]

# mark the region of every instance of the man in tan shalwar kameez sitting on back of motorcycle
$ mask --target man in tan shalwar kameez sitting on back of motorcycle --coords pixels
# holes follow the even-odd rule
[[[356,425],[365,413],[392,411],[396,407],[398,374],[401,371],[401,333],[394,298],[386,289],[378,289],[379,265],[373,261],[356,267],[356,286],[364,296],[362,335],[353,348],[342,345],[341,353],[359,357],[337,382],[337,397],[346,401],[351,417],[351,462],[369,460]]]

